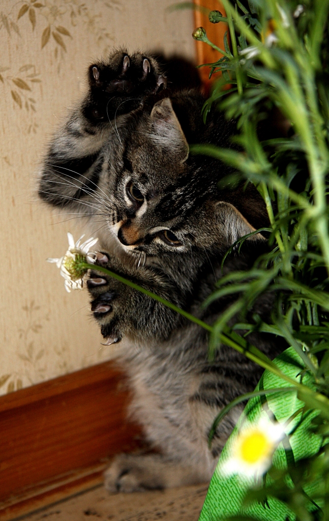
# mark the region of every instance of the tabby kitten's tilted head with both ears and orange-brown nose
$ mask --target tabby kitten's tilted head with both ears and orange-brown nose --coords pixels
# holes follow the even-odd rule
[[[225,167],[188,152],[169,98],[143,111],[100,179],[100,193],[112,207],[108,227],[99,234],[104,246],[110,230],[126,253],[204,255],[255,230],[230,197],[221,199],[217,184]]]

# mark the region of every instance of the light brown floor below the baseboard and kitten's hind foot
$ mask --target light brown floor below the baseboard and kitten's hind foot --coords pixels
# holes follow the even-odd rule
[[[30,514],[24,521],[197,521],[208,486],[109,494],[103,486]]]

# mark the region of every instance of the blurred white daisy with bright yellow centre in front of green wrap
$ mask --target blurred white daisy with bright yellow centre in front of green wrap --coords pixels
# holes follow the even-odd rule
[[[272,464],[272,456],[284,438],[280,423],[261,417],[257,423],[246,421],[236,438],[232,440],[229,456],[219,466],[219,472],[226,476],[239,474],[250,478],[266,472]]]

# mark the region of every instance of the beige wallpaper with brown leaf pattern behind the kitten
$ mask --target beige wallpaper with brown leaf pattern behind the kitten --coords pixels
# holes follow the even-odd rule
[[[108,359],[86,292],[66,293],[47,257],[67,249],[71,216],[37,200],[45,144],[85,89],[85,69],[113,46],[194,57],[191,11],[173,0],[1,0],[0,394]]]

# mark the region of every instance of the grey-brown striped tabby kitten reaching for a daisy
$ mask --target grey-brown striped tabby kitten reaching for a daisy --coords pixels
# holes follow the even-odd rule
[[[40,196],[88,218],[100,265],[212,323],[231,303],[227,297],[200,308],[222,276],[223,254],[267,224],[256,191],[220,191],[228,167],[189,155],[188,143],[229,146],[233,122],[214,111],[204,125],[204,97],[167,88],[148,55],[117,51],[91,65],[88,79],[86,97],[50,144]],[[255,235],[224,273],[250,267],[263,244]],[[226,346],[209,362],[205,330],[97,269],[87,286],[105,343],[124,339],[119,362],[133,390],[130,413],[158,450],[116,457],[106,487],[131,492],[208,481],[241,410],[225,417],[210,450],[213,419],[254,389],[262,369]],[[271,305],[263,297],[253,312],[265,317]],[[251,341],[271,358],[280,351],[272,337],[254,333]]]

